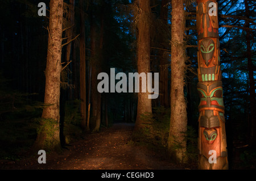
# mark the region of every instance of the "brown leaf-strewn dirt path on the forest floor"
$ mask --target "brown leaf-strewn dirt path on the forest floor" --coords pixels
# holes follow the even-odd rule
[[[102,128],[99,133],[86,134],[82,140],[72,142],[61,154],[47,153],[46,164],[39,164],[39,155],[19,161],[1,162],[0,169],[24,170],[183,170],[164,159],[146,145],[131,140],[134,124],[118,123]]]

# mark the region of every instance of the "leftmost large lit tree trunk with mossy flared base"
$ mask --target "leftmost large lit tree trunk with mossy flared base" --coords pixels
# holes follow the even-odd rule
[[[60,73],[61,41],[63,32],[63,0],[51,0],[49,3],[49,37],[46,64],[46,89],[42,123],[34,149],[59,150],[60,146]]]

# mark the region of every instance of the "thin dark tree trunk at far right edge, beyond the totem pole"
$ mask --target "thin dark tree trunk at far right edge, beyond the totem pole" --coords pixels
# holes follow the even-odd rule
[[[250,18],[249,6],[248,1],[245,0],[245,14],[246,18]],[[250,28],[250,23],[246,21],[245,27]],[[246,30],[246,45],[247,45],[247,67],[248,67],[248,74],[249,74],[249,93],[250,93],[250,145],[256,146],[256,124],[255,124],[255,81],[253,76],[253,60],[251,58],[251,35],[252,32],[250,29]]]

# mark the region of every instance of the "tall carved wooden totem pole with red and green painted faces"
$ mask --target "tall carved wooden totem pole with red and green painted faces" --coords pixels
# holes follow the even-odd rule
[[[216,0],[196,0],[199,169],[228,169]]]

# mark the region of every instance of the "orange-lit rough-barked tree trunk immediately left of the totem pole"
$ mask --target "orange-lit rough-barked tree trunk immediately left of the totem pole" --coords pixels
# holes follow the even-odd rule
[[[170,155],[178,163],[185,162],[187,111],[184,98],[185,12],[184,1],[172,0],[171,43],[171,121],[168,139]]]

